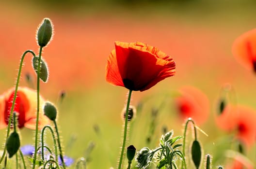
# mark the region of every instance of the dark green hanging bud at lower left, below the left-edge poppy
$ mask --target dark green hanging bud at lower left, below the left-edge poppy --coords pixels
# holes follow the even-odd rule
[[[6,149],[9,154],[9,158],[11,158],[13,155],[17,153],[19,146],[19,135],[16,131],[14,131],[12,134],[10,134],[6,141]]]

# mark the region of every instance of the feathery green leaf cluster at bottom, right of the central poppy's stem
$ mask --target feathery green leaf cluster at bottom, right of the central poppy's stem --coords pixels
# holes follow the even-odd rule
[[[153,150],[144,147],[138,152],[135,159],[137,162],[136,167],[139,169],[146,169],[151,165],[152,160],[154,159],[157,169],[176,168],[176,161],[180,158],[184,160],[182,152],[177,149],[182,146],[182,144],[176,144],[176,142],[182,138],[182,136],[173,137],[173,130],[162,135],[159,147],[156,147]]]

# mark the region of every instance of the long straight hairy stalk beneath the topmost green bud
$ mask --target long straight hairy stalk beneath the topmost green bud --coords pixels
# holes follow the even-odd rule
[[[37,142],[38,142],[38,122],[39,122],[39,107],[40,107],[40,65],[41,65],[41,55],[42,55],[42,50],[43,47],[40,46],[39,48],[39,55],[38,55],[38,65],[37,65],[37,84],[36,84],[36,92],[37,92],[37,111],[36,111],[36,123],[35,123],[35,152],[37,150]],[[35,161],[36,161],[36,155],[37,153],[34,153],[34,158],[33,158],[33,167],[32,169],[35,168]]]

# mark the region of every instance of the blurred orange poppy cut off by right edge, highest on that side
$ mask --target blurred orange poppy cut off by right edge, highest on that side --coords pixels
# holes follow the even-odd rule
[[[256,29],[238,37],[233,44],[232,53],[241,64],[256,72]]]

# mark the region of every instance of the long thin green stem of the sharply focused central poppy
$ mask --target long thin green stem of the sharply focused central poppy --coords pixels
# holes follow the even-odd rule
[[[130,104],[130,99],[131,99],[131,92],[132,92],[132,90],[129,90],[128,99],[127,99],[127,107],[126,107],[124,139],[123,139],[123,146],[122,146],[122,150],[121,150],[121,155],[120,155],[120,158],[119,158],[118,169],[121,169],[121,167],[122,167],[122,161],[123,161],[123,156],[124,156],[124,150],[125,150],[125,144],[126,144],[126,135],[127,135],[127,127],[128,127],[128,113],[129,113],[129,104]]]

